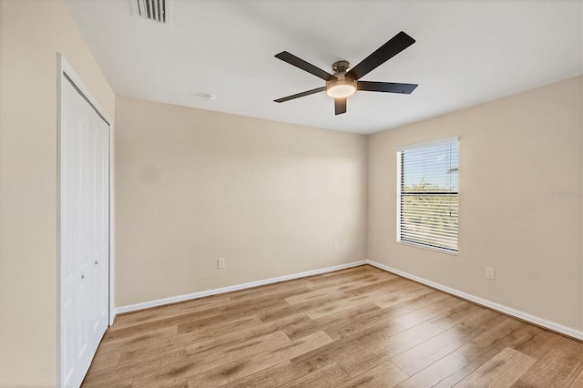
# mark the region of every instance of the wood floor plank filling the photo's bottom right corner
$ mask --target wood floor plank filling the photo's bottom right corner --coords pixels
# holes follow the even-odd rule
[[[563,337],[518,379],[515,386],[568,386],[583,370],[583,343]]]

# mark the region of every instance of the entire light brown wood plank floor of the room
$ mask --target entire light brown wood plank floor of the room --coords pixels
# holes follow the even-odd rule
[[[119,315],[84,387],[583,387],[583,343],[365,265]]]

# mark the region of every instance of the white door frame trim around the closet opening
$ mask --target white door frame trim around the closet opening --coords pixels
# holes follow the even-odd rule
[[[114,305],[114,267],[115,267],[115,168],[114,168],[114,122],[109,117],[93,97],[89,88],[83,83],[81,77],[66,61],[65,57],[56,53],[56,379],[57,386],[63,386],[62,360],[63,360],[63,338],[61,336],[61,87],[63,82],[69,82],[66,77],[77,87],[77,90],[87,99],[87,102],[93,106],[97,114],[101,116],[109,125],[109,287],[108,287],[108,301],[109,311],[107,317],[107,326],[111,326],[115,319],[115,305]]]

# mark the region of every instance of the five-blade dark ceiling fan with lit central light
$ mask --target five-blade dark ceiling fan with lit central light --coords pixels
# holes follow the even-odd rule
[[[408,46],[415,43],[414,38],[408,36],[403,31],[393,36],[383,46],[380,46],[370,56],[363,59],[361,63],[350,68],[347,61],[338,61],[332,64],[332,71],[334,74],[329,74],[321,68],[313,66],[311,63],[304,61],[302,58],[294,56],[287,51],[282,51],[276,55],[276,58],[287,62],[292,66],[301,68],[316,77],[320,77],[326,81],[325,87],[316,87],[312,90],[298,93],[288,97],[281,97],[275,102],[290,101],[294,98],[310,96],[314,93],[325,91],[328,96],[334,98],[334,111],[336,115],[346,113],[346,98],[352,96],[356,90],[365,90],[369,92],[385,92],[385,93],[402,93],[411,94],[414,91],[416,84],[397,84],[393,82],[369,82],[359,81],[362,77],[373,71],[376,67],[381,66],[387,60],[396,56]],[[350,68],[350,70],[348,70]]]

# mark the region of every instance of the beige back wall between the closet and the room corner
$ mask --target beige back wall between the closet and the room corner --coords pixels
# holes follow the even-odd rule
[[[364,136],[122,97],[116,125],[117,306],[365,259]]]

